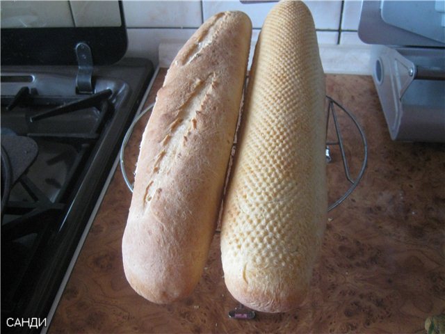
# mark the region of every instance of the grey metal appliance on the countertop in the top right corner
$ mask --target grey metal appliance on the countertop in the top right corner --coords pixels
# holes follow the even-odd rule
[[[359,37],[393,140],[445,142],[445,1],[363,1]]]

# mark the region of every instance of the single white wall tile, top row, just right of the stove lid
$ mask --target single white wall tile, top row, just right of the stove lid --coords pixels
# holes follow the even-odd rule
[[[124,1],[129,28],[197,28],[202,24],[200,1]]]

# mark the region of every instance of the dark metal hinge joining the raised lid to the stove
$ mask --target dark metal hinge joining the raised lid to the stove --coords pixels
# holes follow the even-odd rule
[[[79,42],[75,48],[77,58],[76,90],[79,94],[92,94],[92,54],[86,42]]]

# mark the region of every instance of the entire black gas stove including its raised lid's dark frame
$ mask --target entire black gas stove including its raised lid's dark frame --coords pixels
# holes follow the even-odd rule
[[[1,31],[3,333],[49,325],[152,78],[150,61],[122,58],[120,14],[119,27]]]

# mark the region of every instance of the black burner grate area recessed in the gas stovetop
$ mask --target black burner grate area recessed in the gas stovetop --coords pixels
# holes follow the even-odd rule
[[[106,89],[92,95],[51,97],[23,87],[14,97],[1,97],[2,142],[25,138],[38,146],[22,175],[17,180],[10,177],[1,212],[1,263],[7,269],[2,270],[1,301],[8,308],[14,309],[33,289],[34,273],[52,256],[48,249],[64,228],[74,190],[113,116],[112,95]],[[22,145],[9,145],[6,154],[17,156],[24,150]],[[12,164],[13,175],[15,168]]]

